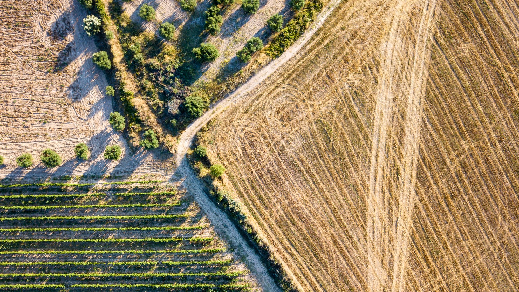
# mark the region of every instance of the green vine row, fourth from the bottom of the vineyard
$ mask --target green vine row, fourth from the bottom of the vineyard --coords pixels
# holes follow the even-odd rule
[[[17,250],[0,251],[0,255],[104,255],[104,254],[216,254],[225,251],[225,248],[208,249],[167,249],[167,250]]]

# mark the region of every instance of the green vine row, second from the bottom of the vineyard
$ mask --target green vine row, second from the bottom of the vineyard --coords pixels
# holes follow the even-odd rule
[[[0,274],[0,277],[185,277],[185,276],[228,276],[236,277],[245,272],[215,272],[215,273],[10,273]]]

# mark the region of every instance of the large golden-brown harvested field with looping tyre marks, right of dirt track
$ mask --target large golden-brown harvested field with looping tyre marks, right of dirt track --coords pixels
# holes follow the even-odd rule
[[[519,5],[343,1],[200,137],[306,291],[517,291]]]

